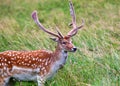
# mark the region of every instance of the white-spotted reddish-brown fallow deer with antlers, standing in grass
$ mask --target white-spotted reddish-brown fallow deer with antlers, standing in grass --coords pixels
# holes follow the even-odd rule
[[[52,77],[58,69],[66,63],[68,52],[75,52],[77,48],[72,44],[71,37],[76,35],[78,30],[84,26],[84,21],[80,26],[76,26],[76,16],[73,4],[70,1],[70,14],[72,16],[73,29],[63,36],[59,30],[57,33],[47,30],[38,20],[37,11],[33,11],[32,18],[44,32],[56,37],[55,51],[35,50],[35,51],[4,51],[0,53],[0,86],[9,85],[10,78],[21,81],[36,81],[38,86],[43,86],[46,79]]]

